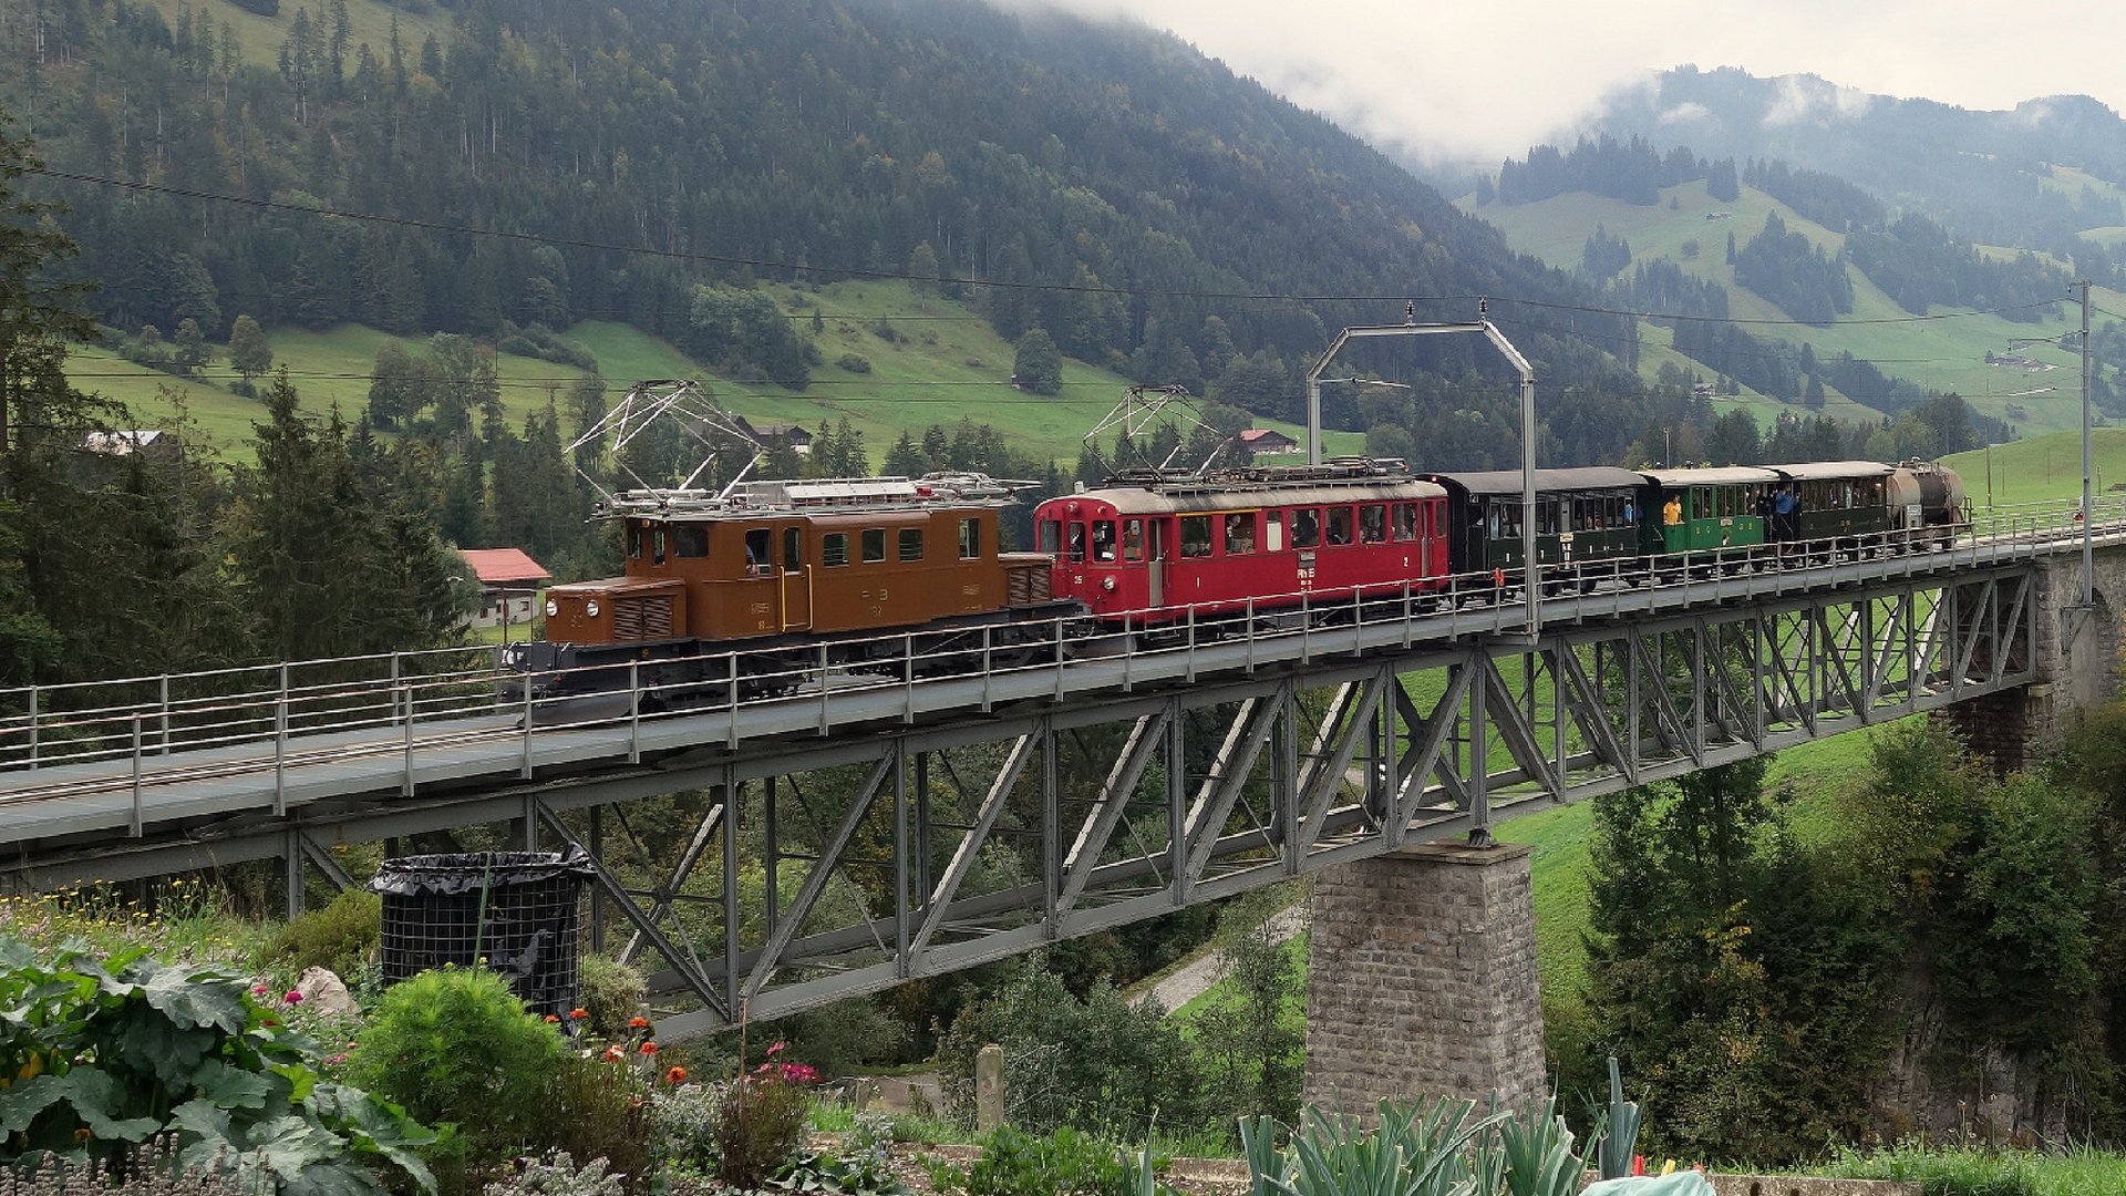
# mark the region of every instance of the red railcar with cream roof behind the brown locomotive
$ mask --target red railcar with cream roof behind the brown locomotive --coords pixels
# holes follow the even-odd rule
[[[1137,626],[1335,602],[1448,572],[1446,489],[1401,462],[1123,477],[1033,509],[1050,589]]]

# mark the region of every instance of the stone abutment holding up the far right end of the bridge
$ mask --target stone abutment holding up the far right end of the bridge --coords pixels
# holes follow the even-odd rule
[[[2096,549],[2096,598],[2081,602],[2081,553],[2037,562],[2032,649],[2037,681],[1956,702],[1943,719],[1973,751],[2003,773],[2030,764],[2045,741],[2120,687],[2120,602],[2126,600],[2126,545]]]

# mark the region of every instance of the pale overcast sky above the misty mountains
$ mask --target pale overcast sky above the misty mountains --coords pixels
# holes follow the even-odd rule
[[[2120,109],[2126,6],[2045,17],[1998,0],[1016,0],[1167,28],[1239,74],[1388,147],[1497,166],[1603,92],[1692,62],[1811,72],[1884,96]]]

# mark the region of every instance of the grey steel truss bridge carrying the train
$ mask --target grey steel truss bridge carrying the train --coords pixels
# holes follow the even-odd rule
[[[2030,683],[2081,526],[1977,532],[1626,577],[1533,636],[1518,600],[1395,589],[761,700],[731,658],[731,696],[655,715],[640,677],[504,687],[491,649],[0,692],[0,885],[279,860],[293,911],[310,870],[357,883],[351,843],[508,824],[591,856],[593,936],[685,1036]]]

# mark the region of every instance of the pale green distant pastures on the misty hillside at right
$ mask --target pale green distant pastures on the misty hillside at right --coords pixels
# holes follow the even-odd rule
[[[1922,387],[1956,392],[1975,411],[2007,419],[2024,434],[2079,428],[2079,394],[2069,394],[2071,387],[2058,381],[2066,375],[2054,370],[2032,381],[2032,375],[2022,370],[1986,366],[1986,353],[2005,353],[2011,340],[2060,336],[2079,328],[2079,311],[2064,302],[2064,296],[2060,311],[2041,323],[2018,323],[1998,315],[1956,315],[1941,309],[1933,313],[1939,319],[1916,321],[1882,287],[1847,266],[1854,283],[1854,311],[1850,315],[1839,317],[1828,328],[1779,326],[1786,321],[1784,311],[1735,283],[1735,268],[1726,262],[1728,234],[1743,243],[1765,226],[1769,213],[1777,213],[1790,232],[1807,236],[1820,249],[1843,249],[1845,238],[1754,187],[1743,185],[1741,198],[1735,202],[1711,200],[1705,194],[1705,183],[1694,181],[1663,189],[1658,204],[1631,204],[1586,192],[1512,206],[1497,202],[1478,206],[1473,198],[1463,198],[1458,204],[1463,211],[1495,223],[1514,249],[1565,270],[1580,266],[1588,236],[1603,228],[1609,236],[1622,236],[1631,243],[1635,264],[1667,260],[1692,277],[1726,287],[1728,315],[1745,323],[1754,336],[1807,343],[1816,347],[1818,358],[1852,353]],[[2094,302],[2117,309],[2126,298],[2098,287]],[[2043,347],[2032,349],[2030,355],[2062,366],[2073,362],[2071,353]],[[1675,360],[1667,349],[1667,334],[1641,326],[1641,375],[1654,377],[1665,360]],[[1703,366],[1699,370],[1703,372]],[[2045,385],[2056,389],[2052,394],[2020,394]],[[1837,419],[1879,417],[1869,406],[1869,398],[1850,396],[1847,404],[1833,398],[1826,404],[1826,415]],[[1760,419],[1771,411],[1762,402],[1750,406]]]

